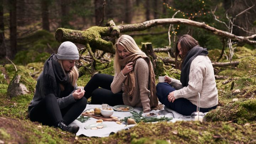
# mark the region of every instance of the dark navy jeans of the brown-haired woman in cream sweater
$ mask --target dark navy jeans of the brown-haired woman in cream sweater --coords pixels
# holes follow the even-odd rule
[[[196,112],[197,106],[186,98],[178,98],[173,103],[169,102],[168,95],[172,91],[175,91],[175,89],[166,82],[161,82],[156,85],[156,95],[158,96],[159,101],[167,108],[170,108],[184,116],[190,116],[191,113]],[[215,108],[217,108],[217,105],[210,108],[200,107],[200,112],[209,112]]]

